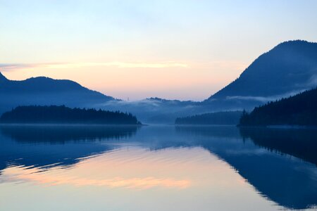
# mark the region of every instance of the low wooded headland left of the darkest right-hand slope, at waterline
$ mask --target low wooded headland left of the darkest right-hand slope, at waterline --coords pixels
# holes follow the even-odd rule
[[[242,111],[223,111],[216,113],[204,113],[188,117],[179,117],[175,124],[232,124],[239,123]]]

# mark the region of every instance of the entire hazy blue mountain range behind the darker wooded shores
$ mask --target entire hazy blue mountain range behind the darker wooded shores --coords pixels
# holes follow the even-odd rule
[[[145,123],[173,124],[177,117],[220,111],[253,110],[317,85],[317,43],[285,41],[263,53],[239,78],[202,102],[147,98],[118,101],[69,80],[36,77],[11,81],[0,73],[0,113],[16,106],[66,105],[121,110]]]

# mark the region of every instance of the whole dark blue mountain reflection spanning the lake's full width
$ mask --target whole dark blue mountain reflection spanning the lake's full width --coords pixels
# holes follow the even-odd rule
[[[263,134],[266,136],[262,137]],[[297,140],[311,145],[307,154]],[[67,167],[89,155],[116,149],[120,146],[117,143],[137,144],[150,150],[199,146],[235,168],[267,198],[287,208],[303,209],[317,204],[316,165],[309,163],[316,161],[313,140],[316,140],[313,131],[240,132],[237,127],[227,126],[149,126],[138,130],[137,127],[2,125],[0,171],[10,165]],[[281,146],[284,141],[290,142],[287,147]]]

